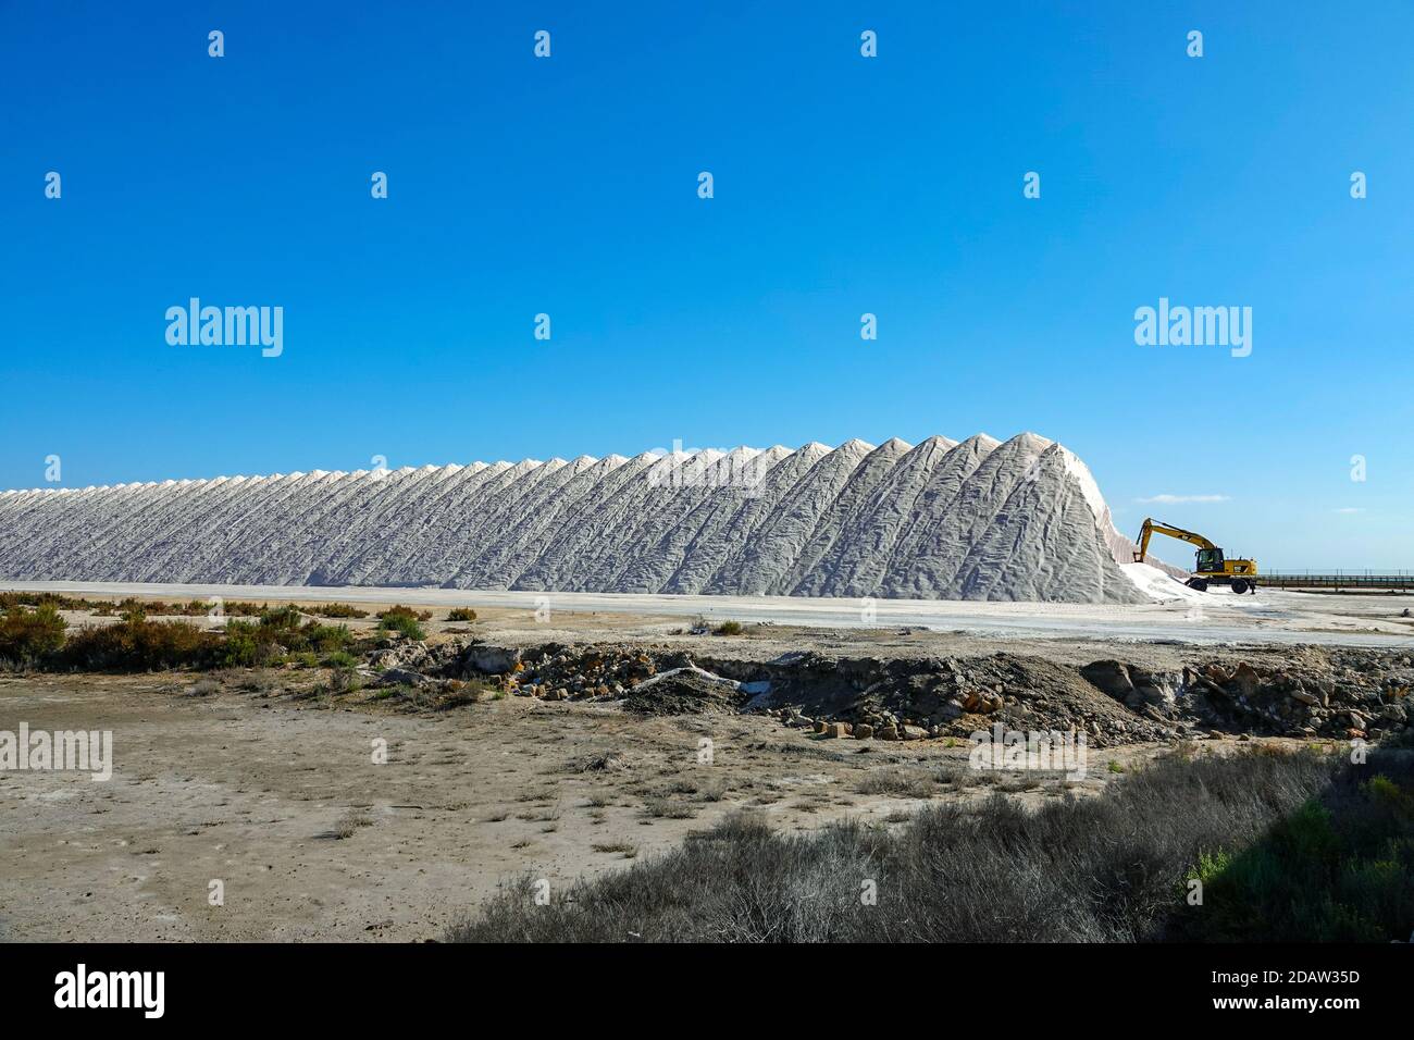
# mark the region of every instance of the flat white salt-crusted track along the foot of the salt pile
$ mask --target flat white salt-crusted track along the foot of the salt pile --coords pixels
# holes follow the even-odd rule
[[[827,628],[922,627],[980,637],[1188,644],[1321,642],[1352,647],[1414,647],[1410,596],[1318,596],[1226,589],[1172,603],[1090,606],[1070,603],[978,603],[957,600],[823,600],[788,596],[635,596],[626,593],[513,593],[460,589],[141,584],[109,582],[0,582],[0,590],[58,591],[89,599],[154,596],[168,600],[287,600],[320,603],[496,607],[553,623],[559,613],[629,614],[662,618],[759,621]],[[1411,610],[1414,613],[1414,610]]]

